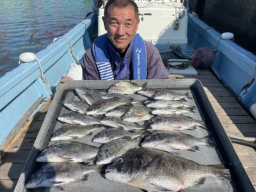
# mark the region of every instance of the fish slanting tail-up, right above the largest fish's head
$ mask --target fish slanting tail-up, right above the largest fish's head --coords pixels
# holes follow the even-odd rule
[[[138,138],[119,138],[116,140],[109,141],[99,148],[98,154],[96,156],[96,164],[108,164],[119,156],[122,156],[129,148],[138,147],[141,141],[141,136]]]

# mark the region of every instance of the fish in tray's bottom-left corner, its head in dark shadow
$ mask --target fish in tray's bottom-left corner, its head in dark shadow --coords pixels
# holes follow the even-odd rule
[[[100,166],[96,164],[80,163],[47,163],[33,173],[26,188],[41,188],[60,186],[78,180],[88,180],[88,173],[100,172]]]

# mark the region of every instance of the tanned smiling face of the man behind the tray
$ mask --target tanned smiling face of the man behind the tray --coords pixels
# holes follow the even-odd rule
[[[108,38],[118,52],[124,52],[139,26],[132,6],[111,8],[108,18],[102,17]]]

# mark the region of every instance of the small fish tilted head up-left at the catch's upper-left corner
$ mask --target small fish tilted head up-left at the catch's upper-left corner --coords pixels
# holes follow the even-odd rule
[[[89,105],[92,105],[94,102],[102,99],[101,93],[94,89],[81,87],[76,88],[75,91],[80,99],[86,101]]]

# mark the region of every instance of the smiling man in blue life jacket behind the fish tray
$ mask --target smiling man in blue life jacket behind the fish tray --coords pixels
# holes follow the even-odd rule
[[[96,38],[82,62],[83,79],[168,79],[159,51],[136,34],[138,6],[131,0],[109,0],[104,10],[107,33]],[[61,83],[72,80],[62,77]]]

